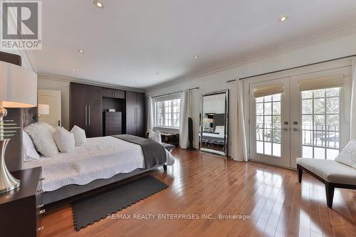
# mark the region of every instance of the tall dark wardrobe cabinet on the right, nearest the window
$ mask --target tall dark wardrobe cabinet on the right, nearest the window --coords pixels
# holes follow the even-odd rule
[[[145,136],[145,94],[126,92],[126,133]]]

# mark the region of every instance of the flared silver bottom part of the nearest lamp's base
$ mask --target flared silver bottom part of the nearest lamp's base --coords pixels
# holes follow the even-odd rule
[[[10,139],[0,139],[0,194],[20,186],[20,181],[11,175],[5,164],[5,150],[9,141]]]

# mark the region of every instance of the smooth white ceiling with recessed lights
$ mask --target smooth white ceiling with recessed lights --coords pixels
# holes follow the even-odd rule
[[[42,1],[38,73],[147,88],[356,23],[355,0],[102,2]]]

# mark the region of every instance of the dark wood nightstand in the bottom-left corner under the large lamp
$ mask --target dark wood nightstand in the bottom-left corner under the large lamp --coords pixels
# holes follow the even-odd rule
[[[0,194],[0,235],[35,237],[43,230],[44,214],[41,194],[42,169],[24,169],[11,174],[21,180],[18,189]]]

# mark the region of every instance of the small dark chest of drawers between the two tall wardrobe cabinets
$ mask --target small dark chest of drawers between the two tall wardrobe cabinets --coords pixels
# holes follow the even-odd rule
[[[122,134],[122,112],[103,112],[104,136]]]

